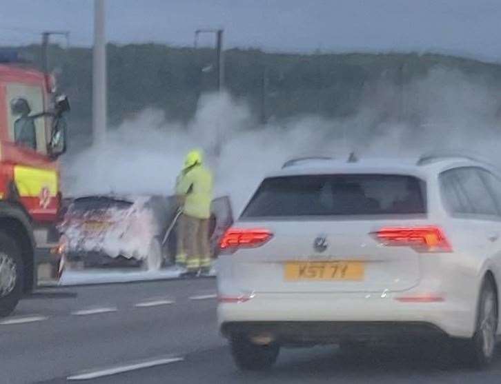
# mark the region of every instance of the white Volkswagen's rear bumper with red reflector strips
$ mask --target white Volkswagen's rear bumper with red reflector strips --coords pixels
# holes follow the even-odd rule
[[[373,329],[365,325],[379,324],[384,332],[393,327],[395,336],[407,328],[412,332],[423,328],[425,334],[433,329],[438,334],[471,337],[475,323],[475,311],[468,305],[446,299],[433,303],[402,303],[395,300],[393,294],[256,294],[242,303],[219,303],[217,312],[223,334],[239,330],[258,332],[256,329],[273,333],[279,324],[317,323],[329,324],[326,330],[332,332],[344,330],[347,338],[350,332],[354,337],[360,336],[356,334],[357,328],[352,327],[357,324],[364,325],[360,329],[364,335]],[[253,326],[248,327],[251,324]],[[302,329],[308,333],[307,326]],[[377,327],[374,329],[377,332]]]

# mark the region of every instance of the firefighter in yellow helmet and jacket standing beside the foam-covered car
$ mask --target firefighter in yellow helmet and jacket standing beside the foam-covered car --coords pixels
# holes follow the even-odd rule
[[[186,273],[197,275],[210,270],[208,226],[210,202],[213,199],[213,176],[203,163],[200,150],[186,155],[184,168],[179,174],[176,194],[181,201],[182,217],[179,225],[178,258],[183,263],[186,255]]]

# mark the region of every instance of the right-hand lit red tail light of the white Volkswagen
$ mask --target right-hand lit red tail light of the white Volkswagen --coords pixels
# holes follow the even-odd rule
[[[412,247],[417,252],[452,252],[440,227],[387,227],[375,232],[378,241],[389,247]]]

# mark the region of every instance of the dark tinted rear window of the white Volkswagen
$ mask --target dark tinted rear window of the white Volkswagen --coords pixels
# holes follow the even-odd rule
[[[425,183],[395,174],[322,174],[264,179],[243,218],[426,213]]]

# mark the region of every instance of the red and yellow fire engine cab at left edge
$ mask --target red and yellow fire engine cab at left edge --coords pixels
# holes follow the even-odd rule
[[[0,52],[0,316],[35,284],[33,228],[57,220],[68,110],[53,77]]]

